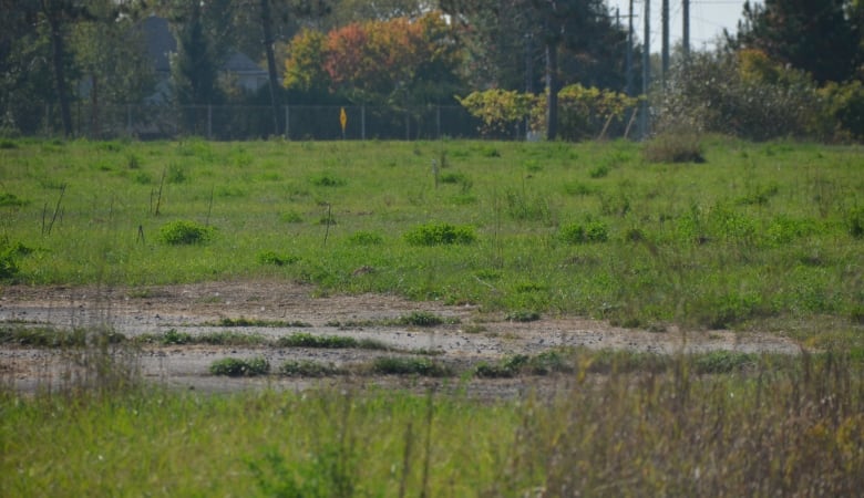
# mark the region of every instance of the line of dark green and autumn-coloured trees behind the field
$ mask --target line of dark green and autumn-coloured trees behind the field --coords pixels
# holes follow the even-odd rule
[[[488,129],[523,121],[547,138],[577,139],[592,133],[567,123],[587,121],[566,113],[606,113],[593,125],[605,131],[613,117],[626,121],[641,87],[642,46],[605,0],[0,0],[0,8],[3,133],[35,133],[48,104],[69,136],[75,104],[97,120],[101,105],[153,95],[161,76],[140,29],[150,15],[166,19],[176,40],[163,82],[168,100],[268,106],[267,134],[284,132],[287,104],[461,104],[484,120],[507,116]],[[860,139],[862,32],[863,0],[747,2],[734,35],[676,53],[666,86],[648,96],[656,129]],[[266,69],[257,92],[222,71],[234,51]],[[804,115],[765,113],[785,126],[762,126],[745,105],[757,95]],[[574,98],[578,105],[568,104]]]

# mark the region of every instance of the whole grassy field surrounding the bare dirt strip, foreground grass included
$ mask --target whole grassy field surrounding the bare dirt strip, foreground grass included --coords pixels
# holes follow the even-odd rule
[[[0,386],[0,496],[853,496],[864,154],[710,137],[703,156],[649,163],[625,142],[2,141],[0,286],[282,278],[518,317],[779,331],[829,352],[743,366],[578,352],[553,392],[497,401],[350,381]]]

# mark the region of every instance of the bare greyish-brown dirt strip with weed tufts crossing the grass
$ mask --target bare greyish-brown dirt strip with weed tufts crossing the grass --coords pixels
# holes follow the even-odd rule
[[[432,328],[385,324],[414,311],[454,319],[457,324]],[[216,326],[222,319],[297,323],[307,326]],[[0,325],[50,325],[58,329],[107,326],[126,338],[176,330],[189,334],[232,330],[278,338],[297,332],[374,339],[403,351],[434,351],[435,361],[456,369],[495,362],[507,355],[537,354],[558,346],[630,349],[673,353],[730,350],[795,354],[795,342],[764,333],[731,331],[689,332],[669,326],[664,332],[620,329],[577,317],[542,318],[533,322],[507,321],[503,314],[482,313],[475,307],[414,302],[393,295],[317,295],[317,288],[285,281],[230,281],[179,286],[27,287],[0,288]],[[236,391],[255,386],[302,390],[319,384],[359,383],[404,385],[433,381],[408,378],[229,378],[213,376],[210,363],[222,357],[265,356],[272,365],[288,360],[312,360],[337,366],[369,362],[392,352],[373,350],[320,350],[277,347],[223,347],[202,345],[152,346],[141,351],[137,367],[145,378],[171,387]],[[14,388],[33,391],[62,380],[62,352],[2,346],[0,378]],[[454,381],[451,381],[454,382]],[[537,378],[471,380],[479,393],[516,393]],[[465,388],[463,385],[462,388]]]

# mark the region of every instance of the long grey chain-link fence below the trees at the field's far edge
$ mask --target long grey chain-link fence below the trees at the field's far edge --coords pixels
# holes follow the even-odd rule
[[[54,135],[62,131],[56,110],[45,107],[43,120],[44,134]],[[414,141],[481,137],[477,118],[459,105],[407,108],[286,105],[280,106],[275,115],[272,107],[249,105],[79,105],[73,111],[73,121],[74,135],[90,138],[200,136],[239,141],[282,135],[289,139]],[[518,133],[523,132],[514,129],[513,136],[495,138],[518,138]]]

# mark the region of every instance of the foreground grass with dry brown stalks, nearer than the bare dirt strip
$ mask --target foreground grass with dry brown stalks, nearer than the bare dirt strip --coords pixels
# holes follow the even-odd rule
[[[585,357],[584,366],[593,361]],[[576,372],[515,400],[360,391],[0,391],[3,496],[854,496],[844,355]]]

